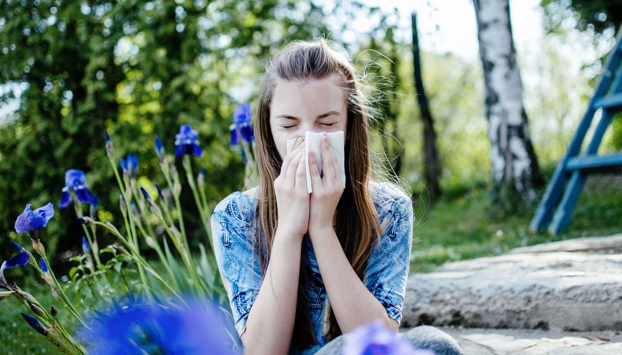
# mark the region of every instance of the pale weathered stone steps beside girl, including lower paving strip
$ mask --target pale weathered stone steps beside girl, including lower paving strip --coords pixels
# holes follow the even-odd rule
[[[402,327],[466,354],[622,354],[622,234],[514,249],[409,277]]]

